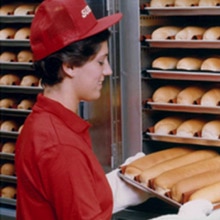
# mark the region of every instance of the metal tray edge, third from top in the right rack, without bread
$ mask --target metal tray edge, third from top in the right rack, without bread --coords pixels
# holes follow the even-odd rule
[[[144,74],[154,79],[220,81],[220,72],[147,69]]]

